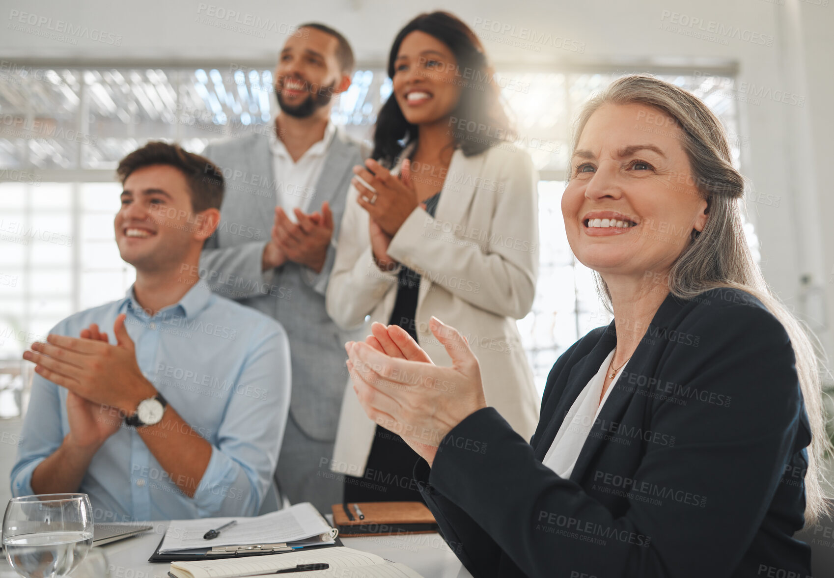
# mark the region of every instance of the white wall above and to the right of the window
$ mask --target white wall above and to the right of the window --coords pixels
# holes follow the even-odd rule
[[[639,68],[640,63],[681,64],[693,71],[711,63],[738,63],[740,82],[769,95],[760,97],[756,104],[740,103],[740,132],[749,143],[741,149],[742,162],[763,201],[749,204],[751,220],[761,239],[762,268],[781,298],[797,313],[809,317],[831,355],[834,349],[828,328],[834,314],[834,284],[829,279],[834,272],[834,228],[827,224],[832,214],[827,209],[834,209],[834,199],[828,191],[826,168],[834,158],[829,137],[834,131],[834,113],[828,104],[834,93],[834,42],[830,39],[834,0],[827,2],[827,6],[817,6],[799,0],[458,0],[446,6],[470,25],[497,21],[585,44],[585,52],[580,54],[546,46],[535,52],[486,42],[492,59],[499,63],[603,61],[622,63],[624,70]],[[359,60],[379,63],[384,61],[389,43],[402,24],[420,11],[435,8],[440,6],[420,0],[144,0],[119,4],[105,0],[2,0],[0,58],[130,58],[165,63],[189,59],[272,60],[285,38],[279,31],[258,38],[201,21],[209,10],[231,9],[241,19],[249,16],[274,21],[280,30],[305,20],[329,23],[354,44]],[[13,11],[52,18],[53,27],[60,19],[75,27],[103,30],[120,37],[120,46],[83,38],[73,46],[20,32],[9,28],[17,22],[10,18]],[[772,37],[773,43],[761,46],[741,38],[711,42],[664,29],[672,23],[673,12],[690,20],[700,18],[705,28],[738,27],[763,38]],[[220,21],[214,18],[214,22]],[[48,32],[47,25],[41,25],[38,31]],[[776,98],[782,93],[776,91],[786,92],[789,102],[778,102]],[[743,99],[754,94],[741,92],[738,96]],[[774,199],[779,199],[778,206]],[[805,284],[801,282],[803,276],[808,279]]]

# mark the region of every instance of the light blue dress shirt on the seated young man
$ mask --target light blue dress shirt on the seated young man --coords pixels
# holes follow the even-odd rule
[[[98,450],[78,491],[97,521],[255,515],[269,491],[289,412],[289,342],[274,319],[212,294],[202,282],[153,317],[133,296],[64,319],[54,334],[108,332],[127,314],[139,369],[193,432],[212,445],[193,498],[160,467],[136,430],[121,427]],[[35,374],[23,422],[13,495],[30,495],[32,472],[69,433],[67,390]]]

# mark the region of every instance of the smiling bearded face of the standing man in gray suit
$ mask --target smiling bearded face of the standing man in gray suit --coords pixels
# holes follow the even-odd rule
[[[350,84],[339,67],[339,41],[317,28],[290,36],[275,68],[275,95],[284,113],[306,118]],[[346,83],[346,84],[345,84]]]

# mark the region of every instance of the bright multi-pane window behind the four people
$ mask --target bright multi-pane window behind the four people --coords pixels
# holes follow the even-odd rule
[[[725,123],[738,163],[731,74],[655,72],[704,99]],[[555,359],[610,320],[590,271],[570,253],[560,196],[570,122],[618,75],[504,70],[495,77],[518,144],[540,170],[540,278],[533,310],[519,323],[540,391]],[[215,138],[269,130],[273,80],[269,67],[239,65],[0,73],[0,359],[19,359],[58,320],[118,299],[133,282],[113,242],[118,159],[149,139],[174,140],[199,153]],[[334,123],[368,140],[390,91],[384,71],[357,71],[334,107]],[[748,236],[756,249],[750,225]]]

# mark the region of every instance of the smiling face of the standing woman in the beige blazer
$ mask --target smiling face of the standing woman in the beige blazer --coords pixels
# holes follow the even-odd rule
[[[394,61],[394,98],[412,124],[445,121],[460,99],[455,55],[434,36],[409,33]]]

